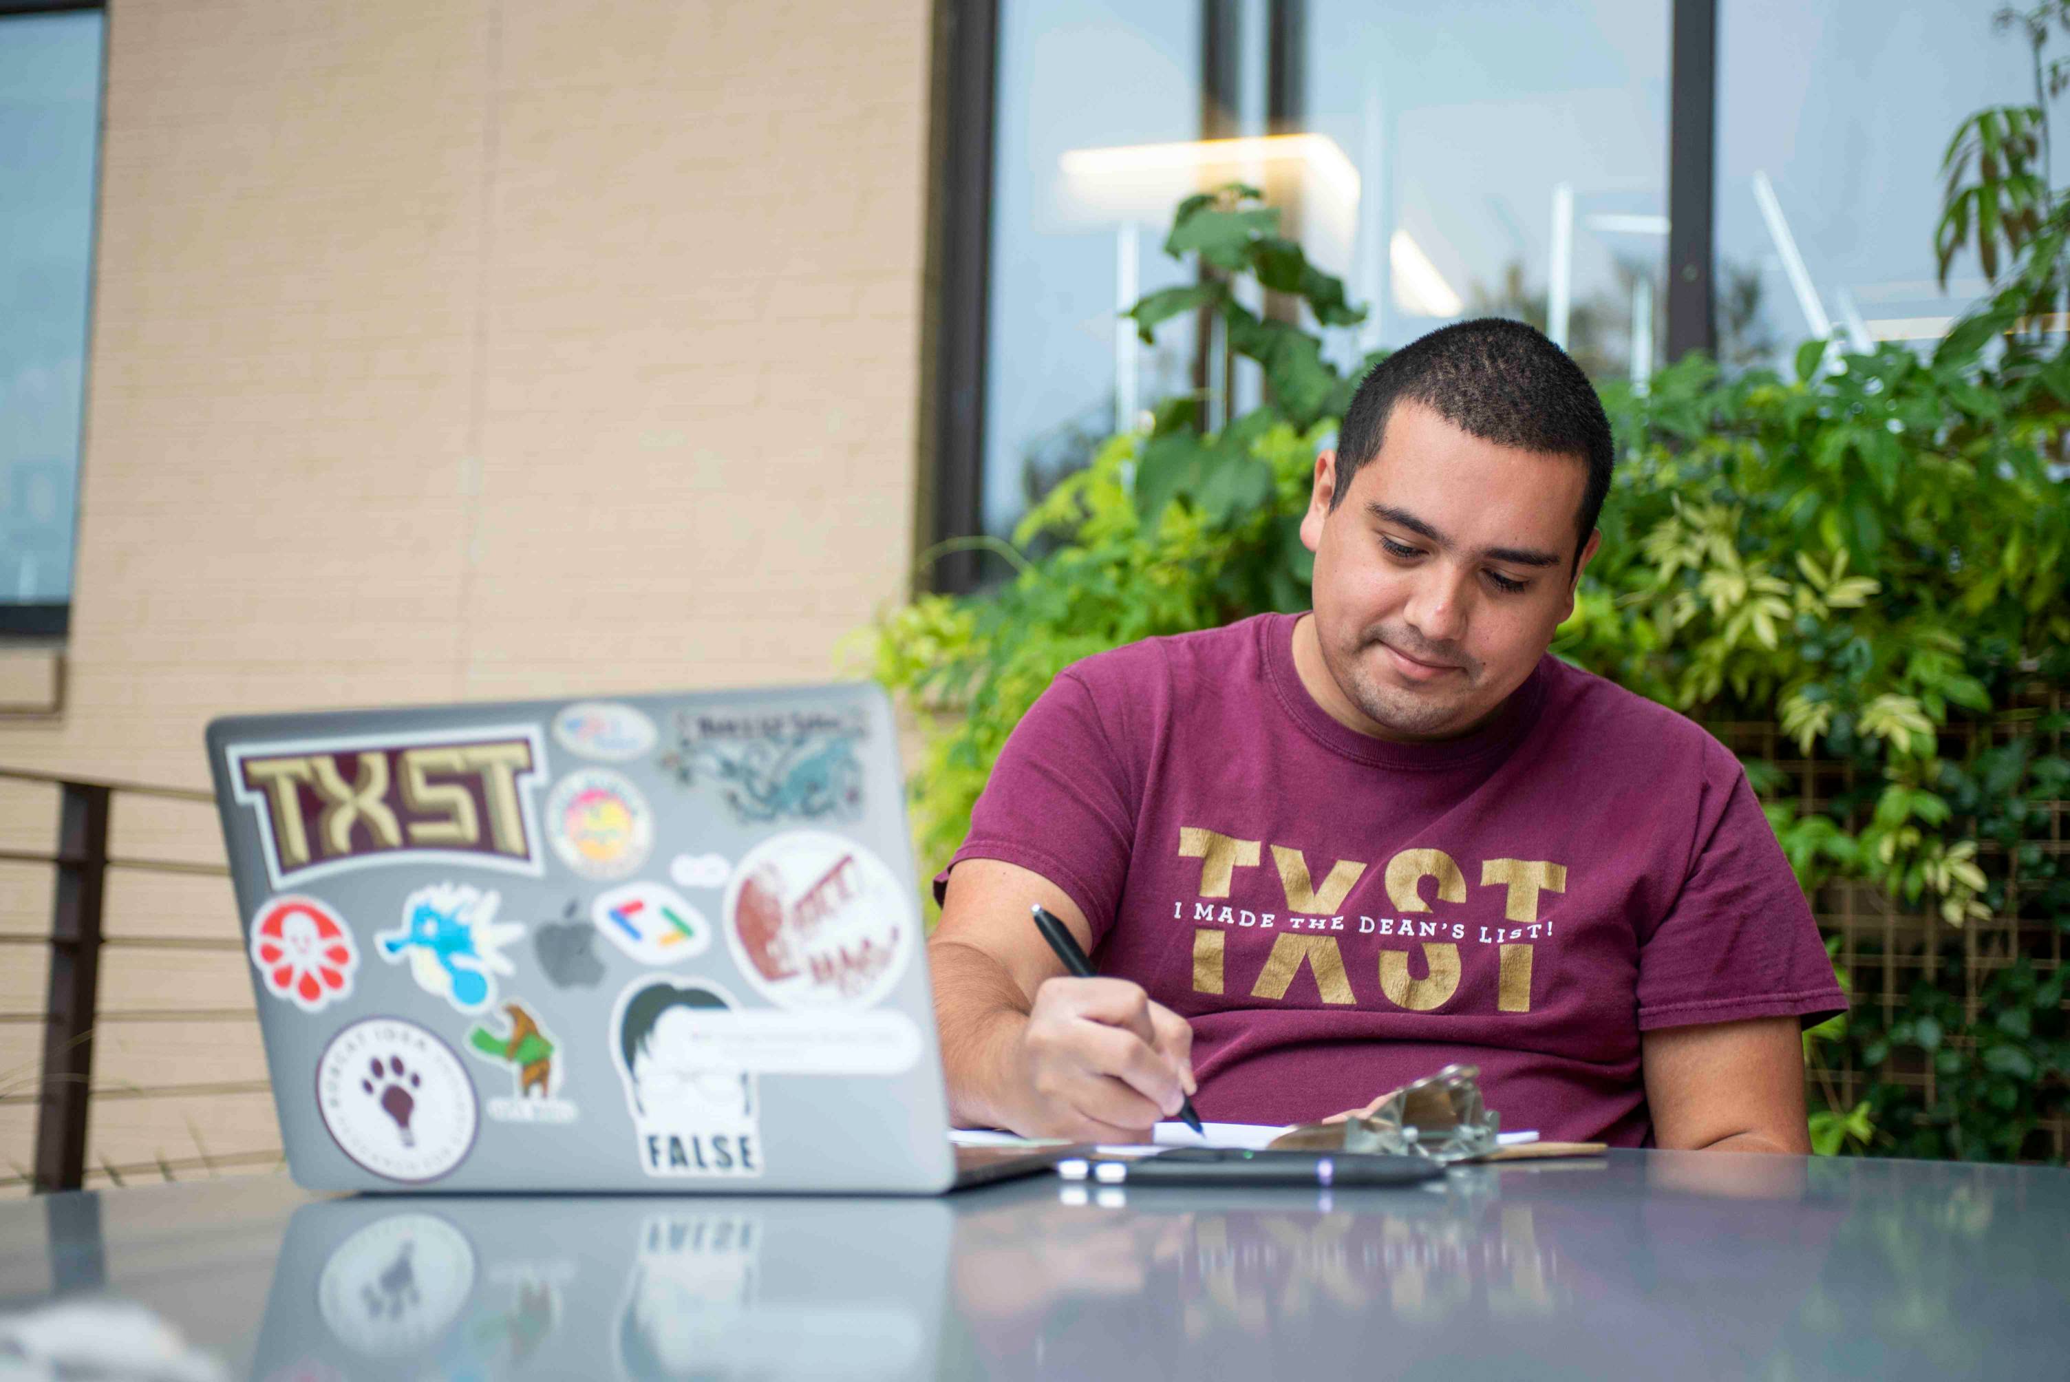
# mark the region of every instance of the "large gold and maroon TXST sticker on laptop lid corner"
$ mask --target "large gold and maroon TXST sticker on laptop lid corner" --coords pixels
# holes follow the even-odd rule
[[[230,794],[259,819],[267,877],[445,859],[542,871],[534,726],[304,739],[230,749]]]

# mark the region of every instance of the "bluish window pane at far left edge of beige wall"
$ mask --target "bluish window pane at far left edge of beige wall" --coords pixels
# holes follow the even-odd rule
[[[101,14],[0,19],[0,604],[72,596]]]

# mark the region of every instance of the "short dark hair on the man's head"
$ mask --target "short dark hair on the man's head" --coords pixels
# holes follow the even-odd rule
[[[1397,399],[1414,399],[1499,447],[1584,461],[1588,486],[1575,515],[1579,534],[1573,546],[1575,561],[1581,559],[1610,492],[1617,445],[1596,385],[1565,350],[1521,321],[1480,317],[1441,327],[1374,364],[1337,428],[1331,509],[1343,503],[1358,468],[1381,453]]]

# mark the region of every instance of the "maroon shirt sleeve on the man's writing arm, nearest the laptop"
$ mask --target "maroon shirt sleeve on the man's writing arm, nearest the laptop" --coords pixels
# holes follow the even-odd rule
[[[1062,888],[1099,945],[1122,902],[1138,797],[1091,687],[1060,672],[1006,739],[971,811],[971,834],[934,879],[936,902],[965,859],[1000,859]]]

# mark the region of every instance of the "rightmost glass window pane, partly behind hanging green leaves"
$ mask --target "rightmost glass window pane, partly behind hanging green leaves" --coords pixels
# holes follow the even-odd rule
[[[1791,370],[1838,333],[1929,348],[1985,290],[1960,257],[1935,283],[1940,159],[1983,106],[2033,99],[2027,43],[1975,0],[1722,0],[1718,356]]]

